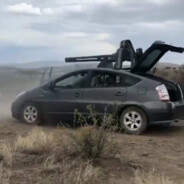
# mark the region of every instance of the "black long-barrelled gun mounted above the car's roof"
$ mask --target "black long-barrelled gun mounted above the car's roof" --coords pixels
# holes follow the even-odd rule
[[[124,61],[131,62],[131,66],[136,62],[136,53],[130,40],[123,40],[116,53],[111,55],[70,57],[65,58],[65,62],[100,62],[98,67],[121,69]]]

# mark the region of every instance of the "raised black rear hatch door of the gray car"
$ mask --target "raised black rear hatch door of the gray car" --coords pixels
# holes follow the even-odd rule
[[[150,71],[160,60],[160,58],[163,57],[163,55],[168,51],[183,53],[184,48],[169,45],[161,41],[156,41],[142,54],[140,59],[136,61],[131,71],[141,73]]]

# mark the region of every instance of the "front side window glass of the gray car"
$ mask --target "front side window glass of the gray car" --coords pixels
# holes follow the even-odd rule
[[[73,74],[55,83],[56,88],[82,88],[85,86],[87,72]]]

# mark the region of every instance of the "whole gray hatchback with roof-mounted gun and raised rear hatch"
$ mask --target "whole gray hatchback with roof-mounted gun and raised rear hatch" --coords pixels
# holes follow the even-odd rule
[[[149,125],[170,124],[184,117],[183,93],[178,84],[150,74],[168,51],[184,49],[155,42],[144,53],[135,52],[130,41],[123,41],[113,55],[66,58],[100,64],[20,94],[12,103],[12,116],[29,124],[48,117],[73,122],[76,109],[87,115],[86,107],[92,104],[100,116],[114,114],[120,128],[130,134],[141,134]],[[122,69],[124,61],[130,61],[131,67]]]

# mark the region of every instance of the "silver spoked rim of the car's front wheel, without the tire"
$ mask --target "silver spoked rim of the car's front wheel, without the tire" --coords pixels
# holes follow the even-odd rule
[[[24,119],[26,122],[32,124],[37,120],[38,117],[38,111],[34,106],[27,106],[24,109]]]

